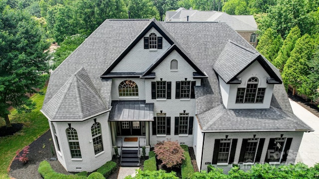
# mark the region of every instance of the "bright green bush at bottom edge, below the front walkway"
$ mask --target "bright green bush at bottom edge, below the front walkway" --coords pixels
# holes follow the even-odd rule
[[[141,171],[137,170],[135,177],[128,176],[125,179],[178,179],[175,172],[166,173],[163,170],[159,171]]]

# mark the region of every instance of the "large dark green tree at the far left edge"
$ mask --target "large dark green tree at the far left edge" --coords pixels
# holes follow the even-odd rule
[[[0,8],[0,116],[11,127],[8,108],[30,111],[34,103],[26,93],[35,92],[47,72],[48,48],[44,31],[22,10]]]

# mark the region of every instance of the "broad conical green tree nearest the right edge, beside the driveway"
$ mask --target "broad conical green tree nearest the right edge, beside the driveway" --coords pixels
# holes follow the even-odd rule
[[[297,40],[295,48],[284,66],[283,81],[286,88],[289,85],[293,88],[293,95],[295,95],[296,89],[306,82],[310,73],[308,64],[312,59],[313,49],[312,37],[308,34],[303,35]]]

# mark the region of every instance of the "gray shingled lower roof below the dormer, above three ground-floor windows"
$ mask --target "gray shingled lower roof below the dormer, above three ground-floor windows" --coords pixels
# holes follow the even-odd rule
[[[269,109],[225,109],[219,105],[207,111],[211,116],[201,120],[206,132],[225,131],[307,131],[311,129],[294,114],[275,107]],[[198,118],[202,118],[199,114]]]

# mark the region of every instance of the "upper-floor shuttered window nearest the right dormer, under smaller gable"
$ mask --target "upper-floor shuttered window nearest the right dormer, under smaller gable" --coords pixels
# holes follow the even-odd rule
[[[195,98],[195,90],[194,87],[196,82],[193,81],[180,81],[176,82],[176,91],[175,91],[175,98],[180,99],[189,99]]]

